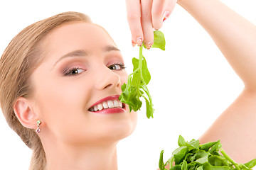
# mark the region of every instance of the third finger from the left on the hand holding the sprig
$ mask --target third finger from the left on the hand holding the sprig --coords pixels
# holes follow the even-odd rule
[[[152,23],[155,30],[163,26],[163,13],[166,0],[154,0],[152,4]],[[169,1],[169,0],[167,0]]]

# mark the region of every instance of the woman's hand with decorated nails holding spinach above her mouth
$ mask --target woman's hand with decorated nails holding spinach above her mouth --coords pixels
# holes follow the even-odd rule
[[[127,18],[132,33],[132,45],[149,49],[154,43],[155,30],[169,18],[177,0],[126,0]]]

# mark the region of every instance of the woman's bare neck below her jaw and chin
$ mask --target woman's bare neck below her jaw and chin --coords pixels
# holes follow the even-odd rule
[[[117,170],[117,144],[67,146],[53,145],[45,147],[46,170]]]

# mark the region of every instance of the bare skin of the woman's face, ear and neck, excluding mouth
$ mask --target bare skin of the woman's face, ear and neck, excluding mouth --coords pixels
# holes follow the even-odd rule
[[[122,113],[110,114],[88,109],[122,93],[127,72],[119,65],[124,63],[121,52],[105,30],[83,22],[55,28],[42,46],[46,57],[31,77],[33,98],[19,98],[16,114],[35,130],[36,120],[41,120],[38,135],[47,170],[117,169],[117,142],[134,131],[137,113],[129,113],[127,106]],[[85,50],[86,55],[65,56],[74,50]],[[78,74],[63,74],[74,68]]]

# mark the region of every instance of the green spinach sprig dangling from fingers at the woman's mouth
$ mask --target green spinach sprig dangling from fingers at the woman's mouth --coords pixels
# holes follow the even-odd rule
[[[165,44],[164,34],[159,30],[155,30],[152,47],[165,50]],[[143,47],[146,48],[145,45]],[[142,55],[143,47],[139,47],[139,60],[135,57],[132,59],[133,72],[129,74],[127,84],[122,85],[122,94],[119,96],[119,100],[129,105],[129,111],[138,111],[142,107],[142,101],[139,98],[143,97],[146,101],[146,117],[153,118],[152,98],[149,94],[149,89],[146,87],[149,84],[151,75],[146,65],[146,59]]]

